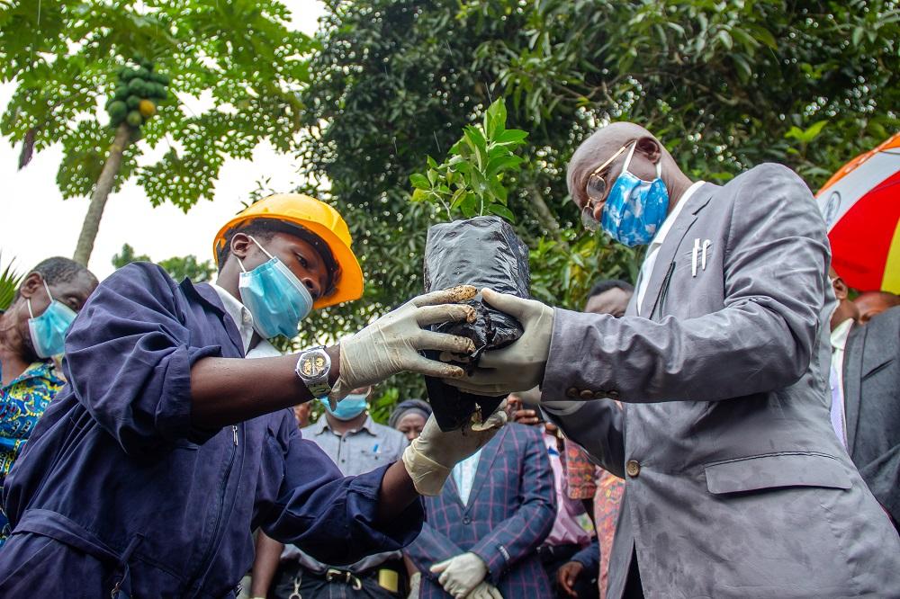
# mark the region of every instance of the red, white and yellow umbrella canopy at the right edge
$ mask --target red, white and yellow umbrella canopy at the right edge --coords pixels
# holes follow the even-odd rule
[[[900,133],[843,165],[815,198],[844,282],[900,293]]]

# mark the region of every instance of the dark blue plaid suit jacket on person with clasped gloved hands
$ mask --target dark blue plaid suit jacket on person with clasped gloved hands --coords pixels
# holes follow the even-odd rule
[[[427,523],[408,548],[422,572],[420,597],[449,597],[428,571],[438,561],[472,551],[488,565],[488,580],[504,597],[552,597],[535,549],[554,525],[554,474],[540,430],[503,427],[484,446],[463,505],[453,478],[425,498]]]

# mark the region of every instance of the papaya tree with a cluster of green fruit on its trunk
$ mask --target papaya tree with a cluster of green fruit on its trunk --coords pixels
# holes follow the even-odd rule
[[[91,197],[76,261],[125,182],[186,211],[226,158],[294,147],[312,42],[289,22],[277,0],[0,3],[0,80],[15,85],[0,134],[22,144],[20,168],[62,145],[63,197]]]

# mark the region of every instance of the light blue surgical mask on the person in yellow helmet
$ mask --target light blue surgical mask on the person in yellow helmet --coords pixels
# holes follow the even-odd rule
[[[312,295],[284,263],[266,252],[256,239],[250,237],[269,261],[250,272],[238,258],[240,301],[253,316],[253,327],[266,339],[275,335],[293,337],[297,326],[312,310]]]

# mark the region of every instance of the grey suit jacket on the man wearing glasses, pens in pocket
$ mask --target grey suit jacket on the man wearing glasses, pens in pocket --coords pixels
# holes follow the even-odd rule
[[[608,596],[633,551],[651,598],[900,596],[900,539],[829,421],[829,258],[806,184],[760,165],[689,198],[644,317],[555,311],[542,401],[626,479]]]

